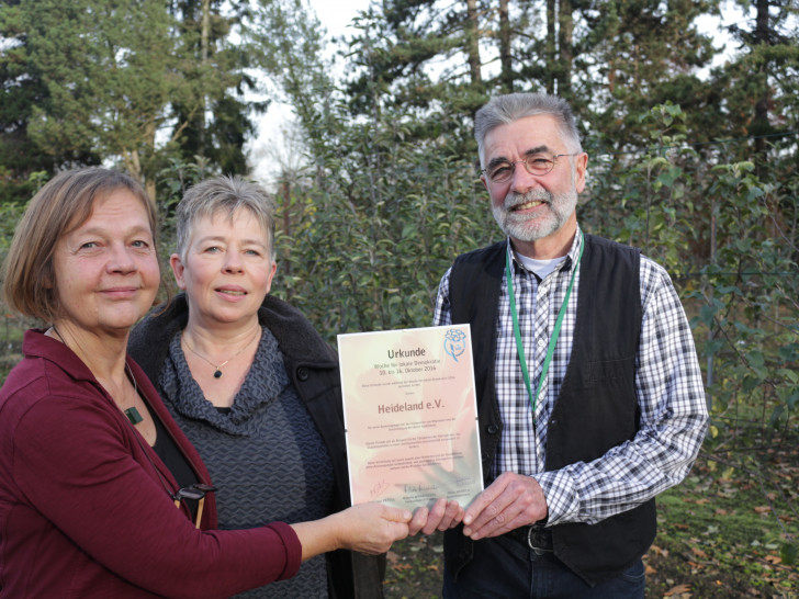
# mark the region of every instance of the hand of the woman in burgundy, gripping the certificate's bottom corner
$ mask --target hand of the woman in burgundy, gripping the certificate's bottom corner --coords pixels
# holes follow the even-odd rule
[[[303,546],[303,561],[337,549],[376,555],[408,535],[410,511],[383,504],[360,504],[316,520],[291,524]]]

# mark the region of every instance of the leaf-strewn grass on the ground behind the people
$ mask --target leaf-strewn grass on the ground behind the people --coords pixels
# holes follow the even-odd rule
[[[646,598],[799,597],[799,433],[772,439],[731,467],[702,453],[657,498],[657,536],[644,556]],[[443,538],[410,538],[389,554],[386,599],[441,596]]]

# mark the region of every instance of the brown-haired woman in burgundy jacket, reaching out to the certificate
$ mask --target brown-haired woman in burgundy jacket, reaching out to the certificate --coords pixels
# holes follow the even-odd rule
[[[0,597],[226,597],[408,534],[409,512],[374,504],[215,530],[205,466],[126,354],[156,230],[142,187],[104,169],[56,176],[16,229],[7,302],[48,326],[0,389]]]

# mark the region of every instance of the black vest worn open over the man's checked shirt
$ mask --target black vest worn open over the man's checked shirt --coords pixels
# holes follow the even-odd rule
[[[640,252],[592,235],[585,244],[572,354],[548,423],[548,471],[600,457],[639,429],[634,364],[641,331]],[[493,357],[506,249],[502,241],[460,256],[450,274],[452,323],[471,326],[485,473],[503,429]],[[655,504],[650,500],[596,524],[550,530],[555,555],[593,586],[641,557],[655,528]],[[453,575],[471,560],[471,543],[460,529],[447,534],[444,558]]]

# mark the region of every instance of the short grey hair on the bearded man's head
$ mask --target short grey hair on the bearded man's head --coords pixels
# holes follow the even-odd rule
[[[548,93],[509,93],[492,98],[474,115],[474,138],[477,140],[480,165],[483,165],[483,144],[488,132],[526,116],[548,114],[556,122],[570,154],[583,151],[579,131],[569,102]]]

